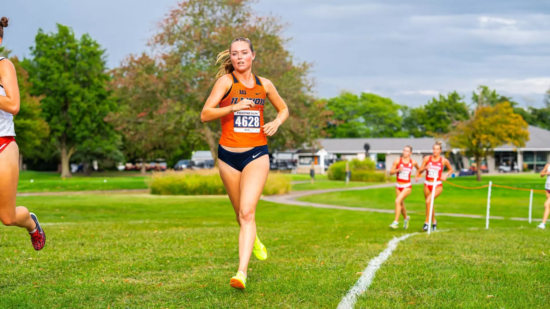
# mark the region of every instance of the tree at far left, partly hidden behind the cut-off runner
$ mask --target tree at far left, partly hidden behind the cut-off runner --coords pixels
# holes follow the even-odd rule
[[[0,54],[8,57],[15,67],[17,83],[19,85],[20,107],[19,113],[14,116],[15,134],[19,146],[19,169],[22,168],[23,158],[43,157],[41,145],[50,134],[48,124],[40,116],[40,97],[30,95],[32,86],[29,82],[29,73],[21,67],[17,57],[9,57],[10,51],[0,47]]]

